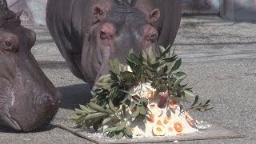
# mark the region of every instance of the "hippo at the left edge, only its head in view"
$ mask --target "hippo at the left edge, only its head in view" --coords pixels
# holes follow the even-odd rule
[[[54,118],[61,94],[31,54],[36,34],[21,26],[20,14],[0,0],[0,125],[27,132]]]

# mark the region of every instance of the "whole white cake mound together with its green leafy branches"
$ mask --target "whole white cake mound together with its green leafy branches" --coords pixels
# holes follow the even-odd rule
[[[198,131],[191,110],[210,110],[210,100],[198,102],[179,70],[182,60],[170,46],[152,47],[136,55],[126,54],[126,65],[110,60],[109,74],[98,79],[94,98],[75,110],[74,120],[82,130],[106,133],[111,138],[182,136]],[[186,103],[194,98],[191,106]]]

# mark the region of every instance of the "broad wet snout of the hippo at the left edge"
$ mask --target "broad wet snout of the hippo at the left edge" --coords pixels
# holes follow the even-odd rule
[[[6,114],[6,124],[14,130],[31,131],[46,126],[58,111],[61,93],[42,93],[32,101],[19,100]],[[15,102],[14,102],[15,103]],[[8,118],[9,115],[9,118]],[[8,123],[7,123],[8,122]]]

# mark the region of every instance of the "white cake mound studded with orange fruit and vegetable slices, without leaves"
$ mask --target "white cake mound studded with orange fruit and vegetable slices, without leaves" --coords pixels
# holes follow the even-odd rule
[[[162,96],[150,86],[150,83],[135,86],[130,90],[130,94],[147,98],[147,107],[151,112],[147,118],[133,118],[130,121],[130,128],[134,137],[176,136],[198,131],[194,127],[195,121],[190,117],[190,114],[187,112],[181,113],[180,102],[168,100],[169,102],[159,106]]]

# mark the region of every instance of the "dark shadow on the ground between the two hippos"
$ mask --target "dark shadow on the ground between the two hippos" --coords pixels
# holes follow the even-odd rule
[[[62,93],[61,108],[74,110],[79,104],[90,102],[90,86],[87,83],[62,86],[58,90]]]

